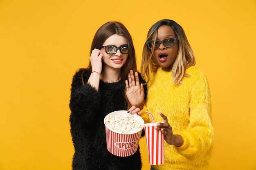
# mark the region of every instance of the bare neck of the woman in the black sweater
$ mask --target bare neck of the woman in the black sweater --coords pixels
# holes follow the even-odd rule
[[[103,82],[118,82],[121,79],[121,68],[110,68],[104,66],[103,73],[101,73],[101,80]]]

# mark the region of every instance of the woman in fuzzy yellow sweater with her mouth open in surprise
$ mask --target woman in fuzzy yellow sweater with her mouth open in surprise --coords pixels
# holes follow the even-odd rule
[[[152,113],[159,122],[155,129],[166,141],[164,164],[151,170],[208,169],[213,150],[211,94],[207,77],[194,65],[182,26],[173,20],[151,26],[142,52],[141,73],[148,89],[140,114]],[[127,89],[131,86],[126,83]]]

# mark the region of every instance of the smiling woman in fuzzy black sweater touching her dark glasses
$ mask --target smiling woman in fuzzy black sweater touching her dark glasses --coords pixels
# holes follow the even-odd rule
[[[139,148],[129,157],[108,152],[103,123],[108,113],[137,106],[127,99],[125,80],[130,70],[137,70],[130,33],[120,22],[103,24],[92,41],[88,68],[79,69],[72,81],[73,170],[141,170]]]

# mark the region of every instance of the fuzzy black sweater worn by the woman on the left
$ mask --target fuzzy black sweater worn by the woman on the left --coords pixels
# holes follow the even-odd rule
[[[90,71],[82,70],[73,77],[70,97],[70,126],[74,143],[73,170],[141,170],[139,147],[129,157],[108,152],[103,119],[116,110],[127,110],[125,84],[100,81],[99,91],[87,84]],[[141,75],[139,75],[141,80]]]

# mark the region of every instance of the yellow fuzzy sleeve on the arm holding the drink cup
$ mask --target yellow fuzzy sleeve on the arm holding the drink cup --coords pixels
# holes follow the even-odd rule
[[[203,73],[196,75],[190,86],[190,121],[186,130],[176,132],[184,141],[176,150],[188,159],[205,156],[213,145],[213,126],[211,123],[211,99],[207,78]]]

